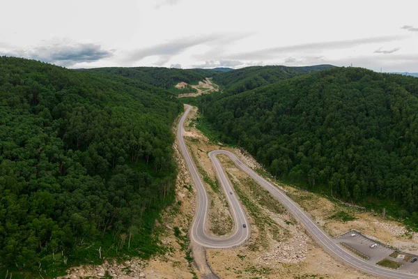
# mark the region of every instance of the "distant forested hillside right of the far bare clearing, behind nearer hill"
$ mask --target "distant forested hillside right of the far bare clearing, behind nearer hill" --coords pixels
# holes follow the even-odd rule
[[[255,89],[260,86],[272,84],[274,82],[278,82],[279,80],[285,80],[298,75],[316,72],[318,70],[326,70],[332,67],[334,66],[251,66],[215,75],[213,79],[217,84],[224,86],[228,93],[236,94]]]

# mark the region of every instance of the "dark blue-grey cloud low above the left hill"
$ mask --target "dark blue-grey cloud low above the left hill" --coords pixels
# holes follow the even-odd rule
[[[90,43],[68,45],[65,42],[33,47],[29,50],[12,50],[3,52],[3,54],[54,63],[59,66],[72,66],[82,62],[91,63],[113,55],[108,50],[102,50],[100,45]]]

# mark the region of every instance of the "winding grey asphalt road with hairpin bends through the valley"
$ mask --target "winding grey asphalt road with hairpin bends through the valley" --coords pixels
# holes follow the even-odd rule
[[[206,222],[206,215],[208,212],[208,196],[206,195],[206,190],[203,188],[203,183],[201,182],[200,176],[197,172],[196,166],[192,158],[187,151],[187,146],[183,140],[183,123],[187,117],[187,114],[191,110],[191,106],[186,105],[187,110],[183,114],[180,122],[178,123],[177,129],[177,137],[178,142],[180,143],[180,149],[185,157],[187,167],[189,168],[190,174],[192,174],[193,181],[196,185],[196,188],[199,193],[199,202],[198,202],[198,210],[194,217],[194,223],[192,225],[192,239],[197,243],[200,243],[202,246],[210,247],[210,248],[229,248],[232,246],[238,246],[243,243],[249,237],[249,224],[247,222],[247,217],[245,216],[244,211],[242,210],[242,206],[238,199],[236,199],[235,195],[228,195],[229,192],[233,192],[231,185],[229,184],[229,180],[226,178],[224,169],[217,160],[216,156],[219,154],[224,154],[231,158],[233,163],[243,172],[247,173],[251,176],[254,181],[256,181],[260,186],[268,190],[270,194],[275,197],[276,199],[286,206],[289,212],[293,213],[293,215],[299,220],[299,222],[307,229],[309,234],[311,234],[312,238],[320,244],[327,252],[329,252],[334,257],[338,257],[342,259],[344,262],[354,266],[355,268],[365,271],[367,273],[371,273],[376,276],[381,276],[384,278],[394,278],[394,279],[418,279],[417,274],[412,273],[403,273],[401,271],[393,270],[393,269],[385,269],[383,267],[377,266],[375,264],[370,264],[344,250],[339,246],[337,243],[334,242],[331,236],[326,234],[316,223],[311,220],[311,218],[304,212],[304,210],[293,200],[291,200],[284,192],[279,190],[276,186],[274,186],[269,181],[263,179],[260,175],[254,172],[251,168],[249,168],[245,163],[235,156],[230,151],[226,150],[215,150],[209,153],[210,159],[215,166],[217,171],[217,177],[223,186],[224,191],[226,192],[226,197],[228,197],[229,205],[231,206],[234,223],[235,223],[235,231],[234,233],[229,236],[228,238],[214,238],[208,236],[205,231],[205,222]],[[242,227],[242,223],[247,224],[247,228]],[[236,225],[238,224],[238,225]]]

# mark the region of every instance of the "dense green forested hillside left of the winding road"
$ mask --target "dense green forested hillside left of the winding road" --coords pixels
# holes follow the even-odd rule
[[[147,84],[0,57],[0,270],[155,252],[181,110]]]

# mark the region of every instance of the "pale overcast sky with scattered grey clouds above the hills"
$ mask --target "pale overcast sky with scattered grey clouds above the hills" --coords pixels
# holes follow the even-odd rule
[[[418,72],[418,1],[2,1],[0,55],[68,68],[330,63]]]

